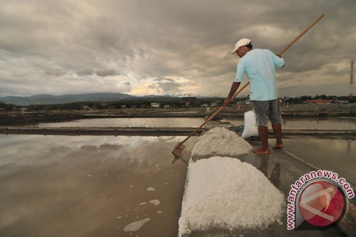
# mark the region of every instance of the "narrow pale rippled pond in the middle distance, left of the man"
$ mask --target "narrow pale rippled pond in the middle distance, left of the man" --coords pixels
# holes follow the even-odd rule
[[[70,122],[39,123],[48,127],[198,127],[203,118],[91,118]]]

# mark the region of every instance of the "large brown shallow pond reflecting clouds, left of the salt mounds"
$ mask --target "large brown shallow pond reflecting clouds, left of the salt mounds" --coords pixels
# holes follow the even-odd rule
[[[177,236],[184,138],[0,135],[1,236]]]

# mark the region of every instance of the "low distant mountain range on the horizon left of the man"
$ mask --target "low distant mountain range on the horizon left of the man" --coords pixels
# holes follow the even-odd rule
[[[80,101],[120,101],[125,99],[141,99],[141,98],[177,98],[196,95],[148,95],[148,96],[131,96],[124,93],[90,93],[83,95],[36,95],[36,96],[6,96],[0,98],[0,101],[7,104],[16,104],[27,106],[30,104],[63,104]],[[202,97],[200,97],[202,98]]]

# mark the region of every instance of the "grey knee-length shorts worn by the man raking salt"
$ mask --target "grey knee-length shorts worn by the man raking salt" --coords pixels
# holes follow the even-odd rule
[[[267,127],[268,118],[272,124],[282,122],[278,99],[273,99],[272,101],[251,101],[251,104],[256,114],[258,126]]]

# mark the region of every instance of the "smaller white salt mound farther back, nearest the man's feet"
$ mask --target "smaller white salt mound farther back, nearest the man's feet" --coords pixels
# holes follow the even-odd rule
[[[213,128],[199,137],[192,150],[194,156],[238,156],[250,152],[252,146],[226,128]]]

